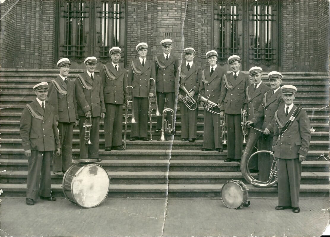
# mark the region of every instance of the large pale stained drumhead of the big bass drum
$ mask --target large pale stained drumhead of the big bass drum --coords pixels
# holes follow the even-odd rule
[[[95,207],[108,195],[108,173],[98,164],[87,164],[76,173],[71,189],[77,204],[86,208]]]

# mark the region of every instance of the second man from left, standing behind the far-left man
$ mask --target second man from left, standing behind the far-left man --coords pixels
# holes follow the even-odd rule
[[[75,83],[67,78],[70,71],[70,60],[61,58],[56,67],[59,75],[49,83],[48,103],[55,110],[57,128],[60,134],[62,152],[53,156],[53,172],[63,176],[71,166],[73,127],[78,126]]]

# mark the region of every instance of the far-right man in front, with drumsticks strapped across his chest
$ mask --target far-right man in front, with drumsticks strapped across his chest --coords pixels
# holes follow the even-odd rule
[[[301,162],[306,160],[311,141],[311,124],[305,110],[296,114],[293,104],[297,88],[285,85],[281,88],[284,100],[275,112],[272,151],[277,159],[279,205],[276,210],[292,208],[299,213]],[[295,117],[293,122],[289,119]],[[290,125],[287,126],[287,123]]]

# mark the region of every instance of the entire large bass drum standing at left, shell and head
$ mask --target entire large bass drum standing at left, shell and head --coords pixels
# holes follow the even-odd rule
[[[109,192],[109,176],[98,164],[76,163],[64,174],[63,193],[70,201],[91,208],[101,204]]]

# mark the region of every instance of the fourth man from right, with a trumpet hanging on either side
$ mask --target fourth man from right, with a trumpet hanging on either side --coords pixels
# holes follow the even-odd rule
[[[232,72],[223,75],[219,98],[220,116],[226,114],[228,151],[225,162],[240,162],[243,150],[241,109],[246,113],[247,104],[244,104],[244,101],[250,80],[247,74],[240,71],[241,58],[239,56],[232,55],[227,62]]]

